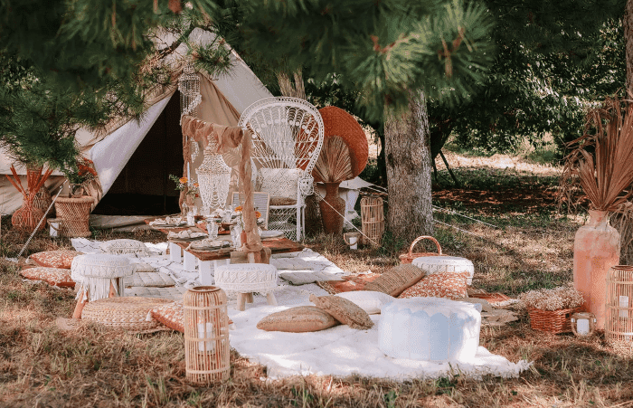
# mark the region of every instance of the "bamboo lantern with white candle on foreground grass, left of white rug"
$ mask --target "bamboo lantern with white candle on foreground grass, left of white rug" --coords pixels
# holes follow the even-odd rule
[[[184,361],[186,377],[209,384],[229,377],[231,346],[224,290],[197,286],[184,293]]]

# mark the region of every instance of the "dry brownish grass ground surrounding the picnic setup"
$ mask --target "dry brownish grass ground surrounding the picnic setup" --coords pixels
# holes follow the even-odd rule
[[[559,170],[512,157],[449,154],[462,186],[439,168],[434,185],[435,237],[448,255],[475,263],[473,287],[515,297],[529,289],[572,280],[573,236],[582,216],[556,213]],[[477,223],[461,215],[483,221]],[[15,256],[28,235],[7,230],[0,250]],[[454,228],[457,227],[457,228]],[[100,234],[98,239],[122,235]],[[130,237],[126,235],[125,237]],[[141,241],[164,235],[137,232]],[[406,242],[385,236],[379,249],[350,251],[339,238],[312,237],[307,246],[343,270],[383,272],[398,262]],[[66,239],[36,235],[26,255],[70,248]],[[433,251],[432,244],[427,250]],[[231,379],[210,387],[185,381],[184,339],[175,332],[133,335],[98,326],[62,332],[55,318],[70,317],[74,293],[25,283],[14,264],[0,263],[0,406],[6,407],[584,407],[633,406],[633,352],[602,335],[580,339],[530,328],[527,313],[505,327],[482,327],[481,345],[510,361],[534,361],[516,379],[458,375],[395,383],[351,376],[269,380],[263,366],[231,354]]]

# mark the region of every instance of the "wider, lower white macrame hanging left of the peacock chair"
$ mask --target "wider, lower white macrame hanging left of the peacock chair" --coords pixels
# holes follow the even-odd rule
[[[197,173],[203,207],[213,211],[216,208],[224,208],[226,205],[231,167],[227,166],[222,156],[218,154],[218,143],[214,135],[209,135],[208,139],[209,145],[204,148],[203,163],[198,167]]]

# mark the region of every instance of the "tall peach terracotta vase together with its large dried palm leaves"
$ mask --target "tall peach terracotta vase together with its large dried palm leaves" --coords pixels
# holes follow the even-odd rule
[[[633,104],[613,97],[590,109],[584,134],[568,146],[572,152],[565,157],[559,199],[568,205],[588,201],[590,214],[574,239],[573,283],[602,329],[607,272],[619,264],[620,251],[609,212],[633,195]]]

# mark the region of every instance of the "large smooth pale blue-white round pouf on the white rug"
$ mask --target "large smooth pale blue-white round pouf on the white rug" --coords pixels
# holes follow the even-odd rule
[[[479,346],[477,306],[439,298],[394,300],[381,309],[378,346],[393,358],[468,361]]]

